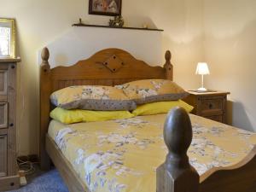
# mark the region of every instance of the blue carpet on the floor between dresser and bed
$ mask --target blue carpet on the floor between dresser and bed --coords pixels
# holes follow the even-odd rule
[[[59,172],[52,170],[33,178],[26,186],[9,192],[68,192]]]

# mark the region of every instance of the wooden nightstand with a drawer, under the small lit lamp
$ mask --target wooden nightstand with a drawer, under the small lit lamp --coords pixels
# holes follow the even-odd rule
[[[194,107],[192,113],[205,117],[207,119],[216,120],[226,124],[226,103],[229,92],[216,91],[198,93],[188,91],[189,96],[183,99],[184,102],[189,103]]]

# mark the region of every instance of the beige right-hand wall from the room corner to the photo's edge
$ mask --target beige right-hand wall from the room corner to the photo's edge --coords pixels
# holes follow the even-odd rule
[[[205,0],[207,87],[231,92],[229,121],[256,131],[256,1]]]

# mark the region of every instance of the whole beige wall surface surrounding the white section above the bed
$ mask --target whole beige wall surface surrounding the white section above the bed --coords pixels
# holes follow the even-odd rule
[[[19,154],[38,152],[38,49],[60,37],[79,17],[106,24],[108,17],[87,15],[88,0],[1,0],[2,17],[15,17],[20,64]],[[256,2],[254,0],[123,0],[127,26],[156,26],[162,52],[172,50],[175,79],[196,88],[198,61],[207,61],[208,88],[230,90],[229,121],[256,130]],[[204,34],[203,34],[204,32]]]

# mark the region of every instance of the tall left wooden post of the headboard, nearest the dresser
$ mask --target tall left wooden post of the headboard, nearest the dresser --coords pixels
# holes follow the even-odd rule
[[[50,160],[45,150],[45,137],[49,126],[49,96],[50,96],[50,67],[49,49],[42,50],[42,64],[40,66],[40,166],[43,170],[49,170]]]

